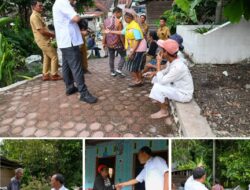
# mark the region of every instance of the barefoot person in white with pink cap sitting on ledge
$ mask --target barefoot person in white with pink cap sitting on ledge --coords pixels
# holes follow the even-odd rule
[[[189,102],[192,100],[194,86],[191,73],[182,59],[177,56],[179,45],[175,40],[158,40],[157,44],[162,50],[157,55],[157,71],[148,75],[152,79],[153,88],[149,97],[160,102],[160,111],[151,115],[152,119],[168,117],[168,105],[165,98],[178,102]],[[161,70],[162,59],[168,63],[164,70]]]

